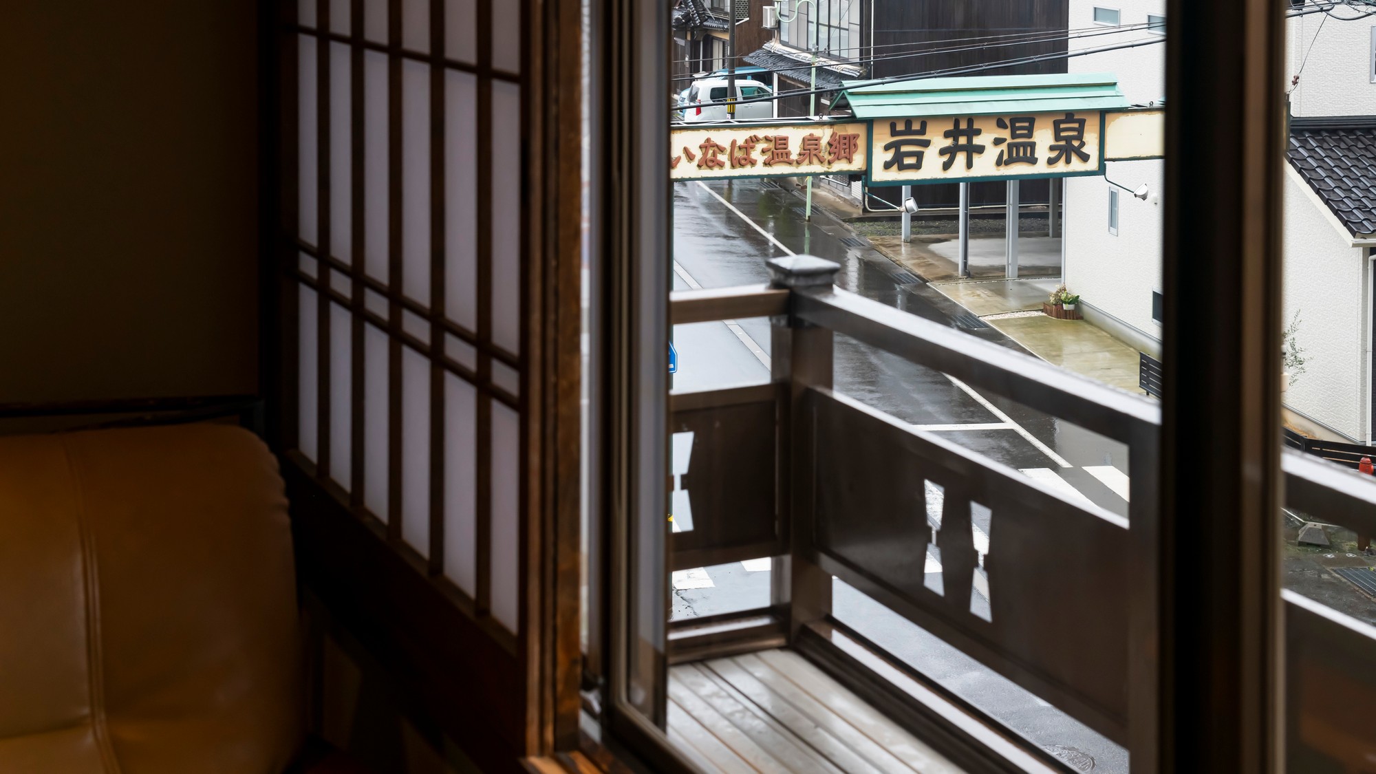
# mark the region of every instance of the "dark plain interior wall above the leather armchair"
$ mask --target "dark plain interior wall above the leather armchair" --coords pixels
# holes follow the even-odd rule
[[[256,25],[0,4],[0,404],[257,391]]]

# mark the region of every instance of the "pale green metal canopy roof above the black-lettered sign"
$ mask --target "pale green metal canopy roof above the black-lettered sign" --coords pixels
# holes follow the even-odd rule
[[[1127,107],[1113,73],[843,81],[856,118],[991,116]]]

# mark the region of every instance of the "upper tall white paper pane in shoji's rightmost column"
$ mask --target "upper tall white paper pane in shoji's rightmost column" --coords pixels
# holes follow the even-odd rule
[[[520,87],[493,81],[493,342],[520,351]]]

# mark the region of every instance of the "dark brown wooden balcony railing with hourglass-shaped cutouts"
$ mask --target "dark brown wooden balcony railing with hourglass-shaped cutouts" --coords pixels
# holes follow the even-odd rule
[[[782,559],[772,606],[740,616],[738,640],[728,621],[703,629],[710,642],[684,625],[670,657],[782,638],[834,649],[843,629],[830,617],[835,576],[1105,737],[1154,748],[1161,697],[1150,643],[1170,570],[1154,563],[1159,405],[838,289],[837,269],[812,256],[775,259],[769,286],[673,295],[676,324],[771,315],[773,373],[769,384],[671,395],[671,430],[694,432],[682,482],[694,529],[673,534],[671,565]],[[837,394],[835,333],[1127,445],[1128,516]],[[1284,470],[1293,507],[1373,533],[1376,483],[1289,452]],[[941,493],[934,529],[929,490]],[[989,514],[987,536],[971,530],[977,510]],[[940,584],[926,578],[929,544],[940,552]],[[971,611],[973,588],[988,599],[987,617]],[[1282,598],[1291,760],[1373,766],[1376,629],[1296,594]],[[856,668],[854,658],[839,660]],[[857,668],[866,678],[852,671],[852,679],[886,683]],[[1333,680],[1350,684],[1343,702],[1325,698]],[[897,693],[881,698],[908,702],[929,731],[970,741],[969,729],[952,730],[912,690]],[[1354,716],[1354,707],[1365,709]],[[962,709],[991,730],[978,744],[1006,744],[998,723]]]

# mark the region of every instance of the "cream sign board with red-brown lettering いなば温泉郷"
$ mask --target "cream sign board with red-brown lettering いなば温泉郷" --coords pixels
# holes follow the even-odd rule
[[[682,128],[671,134],[674,180],[864,172],[868,124]]]

